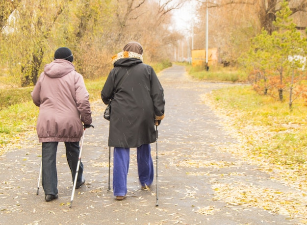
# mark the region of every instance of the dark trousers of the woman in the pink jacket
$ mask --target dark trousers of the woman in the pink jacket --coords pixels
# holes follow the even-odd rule
[[[57,195],[57,172],[56,172],[56,151],[58,142],[42,143],[42,185],[45,195]],[[75,180],[77,163],[79,159],[79,142],[65,142],[66,158]],[[83,164],[80,162],[77,181],[81,181]]]

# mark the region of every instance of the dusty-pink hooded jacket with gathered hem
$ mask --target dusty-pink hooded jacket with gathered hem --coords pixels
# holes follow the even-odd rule
[[[91,108],[83,77],[70,61],[55,59],[47,64],[31,95],[39,106],[40,142],[80,141],[82,122],[92,123]]]

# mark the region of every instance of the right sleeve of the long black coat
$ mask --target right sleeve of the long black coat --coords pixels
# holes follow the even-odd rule
[[[153,100],[154,113],[156,117],[160,118],[159,120],[162,120],[164,118],[165,106],[164,90],[153,68],[151,68],[151,70],[151,97]]]

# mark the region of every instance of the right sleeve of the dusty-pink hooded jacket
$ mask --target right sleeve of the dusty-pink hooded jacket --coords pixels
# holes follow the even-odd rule
[[[92,112],[89,102],[89,94],[86,90],[82,75],[76,72],[75,79],[76,104],[83,124],[92,124]]]

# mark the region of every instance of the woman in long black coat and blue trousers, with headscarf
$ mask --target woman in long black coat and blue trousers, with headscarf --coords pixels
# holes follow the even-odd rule
[[[137,149],[142,188],[153,182],[150,143],[155,142],[154,125],[164,118],[163,88],[153,68],[143,63],[143,48],[129,42],[112,57],[114,68],[102,88],[105,104],[111,101],[108,146],[114,147],[113,194],[123,200],[127,194],[129,150]]]

